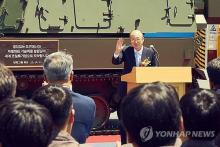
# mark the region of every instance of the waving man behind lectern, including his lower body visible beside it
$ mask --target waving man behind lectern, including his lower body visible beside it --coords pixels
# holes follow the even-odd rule
[[[147,48],[143,46],[144,36],[139,30],[134,30],[130,33],[130,46],[124,46],[124,39],[119,38],[116,43],[114,55],[112,57],[112,63],[115,65],[124,62],[124,70],[122,74],[130,73],[134,66],[158,66],[157,51],[151,47]],[[110,107],[117,109],[118,117],[120,118],[120,103],[122,98],[127,94],[127,83],[121,82],[118,86],[117,96],[115,96],[111,102]],[[126,143],[126,135],[123,129],[120,129],[121,142]]]

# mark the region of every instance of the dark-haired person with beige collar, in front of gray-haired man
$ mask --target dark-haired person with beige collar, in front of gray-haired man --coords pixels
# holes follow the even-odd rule
[[[49,147],[79,147],[70,135],[74,122],[74,108],[69,91],[59,85],[49,84],[36,90],[32,99],[47,107],[56,127],[56,138]]]

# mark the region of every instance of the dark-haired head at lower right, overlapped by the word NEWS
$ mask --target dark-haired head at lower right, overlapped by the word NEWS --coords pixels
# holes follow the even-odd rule
[[[180,107],[184,128],[189,132],[187,133],[189,138],[209,140],[219,133],[220,100],[214,91],[194,89],[181,98]],[[200,131],[211,134],[196,135]]]

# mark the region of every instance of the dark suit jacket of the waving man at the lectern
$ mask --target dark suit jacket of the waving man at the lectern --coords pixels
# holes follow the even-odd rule
[[[156,57],[156,52],[152,48],[147,48],[147,47],[143,48],[141,61],[143,61],[146,58],[151,61],[150,65],[148,66],[159,65]],[[123,62],[124,62],[123,74],[127,74],[131,72],[132,68],[136,66],[135,53],[133,47],[127,46],[123,48],[118,58],[115,58],[114,56],[112,57],[112,63],[115,65],[121,64]]]

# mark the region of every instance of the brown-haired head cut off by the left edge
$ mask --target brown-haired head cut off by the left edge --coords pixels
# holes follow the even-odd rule
[[[15,97],[17,81],[10,69],[0,63],[0,101]]]

